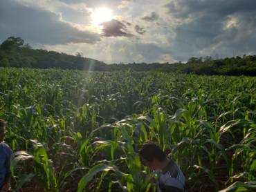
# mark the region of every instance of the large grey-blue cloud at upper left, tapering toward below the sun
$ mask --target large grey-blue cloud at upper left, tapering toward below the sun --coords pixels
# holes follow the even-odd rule
[[[0,1],[0,39],[19,36],[28,42],[39,44],[94,44],[99,35],[78,30],[60,20],[60,15],[39,8],[22,6],[17,1]]]

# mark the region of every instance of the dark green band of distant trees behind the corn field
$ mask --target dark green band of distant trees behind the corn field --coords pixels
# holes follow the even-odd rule
[[[174,64],[105,64],[95,59],[84,58],[80,53],[65,53],[33,49],[20,37],[9,37],[0,44],[0,67],[16,68],[62,68],[77,70],[136,70],[194,73],[198,75],[250,75],[256,76],[256,55],[212,59],[192,57],[186,63]]]

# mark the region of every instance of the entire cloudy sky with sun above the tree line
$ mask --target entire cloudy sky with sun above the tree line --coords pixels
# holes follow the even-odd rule
[[[0,42],[111,63],[256,53],[254,0],[0,0]]]

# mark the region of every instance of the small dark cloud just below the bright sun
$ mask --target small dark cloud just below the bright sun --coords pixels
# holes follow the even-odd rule
[[[127,32],[127,26],[125,23],[118,21],[116,19],[112,19],[111,21],[107,21],[101,24],[103,26],[103,36],[105,37],[132,37],[129,32]]]

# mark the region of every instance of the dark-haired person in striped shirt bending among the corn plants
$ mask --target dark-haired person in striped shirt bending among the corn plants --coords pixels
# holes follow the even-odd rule
[[[185,177],[179,166],[172,159],[168,159],[165,153],[154,144],[146,142],[139,152],[140,160],[150,169],[159,170],[157,187],[161,192],[183,192],[185,189]]]

